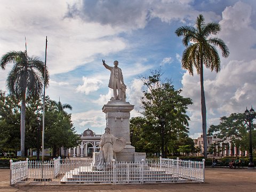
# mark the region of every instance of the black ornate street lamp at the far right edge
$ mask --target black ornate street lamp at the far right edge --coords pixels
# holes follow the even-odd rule
[[[247,109],[244,111],[246,120],[249,122],[249,159],[250,162],[248,164],[248,167],[254,167],[253,164],[253,156],[252,156],[252,121],[255,118],[255,113],[253,108],[250,109],[250,111]]]

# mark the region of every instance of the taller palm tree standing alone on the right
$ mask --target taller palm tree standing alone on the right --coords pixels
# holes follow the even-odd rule
[[[193,68],[195,67],[197,74],[200,75],[204,158],[207,157],[207,136],[203,65],[217,73],[220,71],[220,58],[215,46],[220,48],[223,57],[227,58],[229,55],[228,47],[221,39],[209,37],[216,35],[220,30],[219,23],[205,24],[204,17],[200,14],[197,17],[195,27],[183,26],[175,31],[177,36],[183,36],[182,43],[186,46],[182,55],[182,68],[187,69],[189,74],[193,75]]]

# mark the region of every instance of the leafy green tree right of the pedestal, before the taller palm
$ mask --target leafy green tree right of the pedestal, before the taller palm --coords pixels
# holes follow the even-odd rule
[[[188,133],[186,110],[192,101],[183,98],[181,90],[175,90],[170,79],[162,81],[161,76],[161,70],[156,70],[151,76],[141,78],[147,88],[141,98],[141,114],[151,124],[151,134],[156,134],[154,139],[161,141],[158,146],[161,143],[163,157],[166,157],[167,143],[182,132]]]

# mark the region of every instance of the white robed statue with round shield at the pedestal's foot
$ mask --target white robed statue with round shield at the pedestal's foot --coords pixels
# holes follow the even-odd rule
[[[106,127],[105,133],[101,135],[100,139],[100,153],[97,161],[98,170],[102,170],[105,163],[111,163],[113,159],[116,159],[113,143],[117,139],[113,134],[110,134],[110,129]]]

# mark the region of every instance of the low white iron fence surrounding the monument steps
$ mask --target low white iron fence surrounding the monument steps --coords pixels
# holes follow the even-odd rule
[[[204,182],[204,159],[182,161],[147,158],[141,162],[113,162],[97,170],[91,158],[54,159],[37,162],[10,161],[11,185],[54,185],[93,183],[176,183]]]

